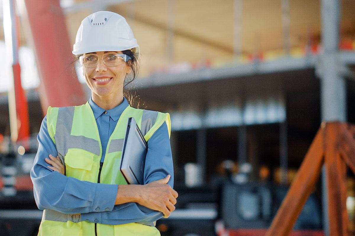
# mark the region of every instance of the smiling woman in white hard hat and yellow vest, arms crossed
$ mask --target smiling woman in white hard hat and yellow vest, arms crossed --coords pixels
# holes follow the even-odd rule
[[[31,170],[44,210],[38,235],[160,235],[153,222],[168,217],[178,197],[170,117],[132,108],[123,96],[125,79],[137,73],[132,30],[116,13],[95,12],[82,21],[73,54],[92,96],[81,106],[49,107],[43,119]],[[128,117],[148,143],[144,185],[127,185],[117,171]]]

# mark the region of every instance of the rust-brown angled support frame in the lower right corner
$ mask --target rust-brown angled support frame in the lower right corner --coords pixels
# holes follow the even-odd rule
[[[327,175],[328,215],[331,236],[348,236],[346,165],[355,173],[355,126],[322,123],[305,159],[265,236],[290,235],[324,163]]]

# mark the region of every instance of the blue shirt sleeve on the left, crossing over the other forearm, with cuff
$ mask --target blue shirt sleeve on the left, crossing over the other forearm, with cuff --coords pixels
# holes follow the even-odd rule
[[[53,209],[65,214],[112,211],[118,185],[98,184],[67,177],[49,169],[45,158],[57,156],[56,146],[49,136],[47,116],[37,136],[38,151],[31,169],[33,194],[41,210]]]

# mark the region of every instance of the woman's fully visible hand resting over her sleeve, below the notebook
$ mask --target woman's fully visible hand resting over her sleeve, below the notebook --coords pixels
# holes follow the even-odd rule
[[[167,184],[169,179],[170,174],[164,179],[139,185],[141,186],[141,191],[138,191],[136,202],[155,211],[163,212],[164,218],[168,218],[170,213],[175,210],[174,205],[178,197],[178,192]]]

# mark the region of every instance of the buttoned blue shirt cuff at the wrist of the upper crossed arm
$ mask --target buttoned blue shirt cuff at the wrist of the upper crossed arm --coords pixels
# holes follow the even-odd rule
[[[97,184],[92,212],[112,211],[115,206],[118,184]]]

